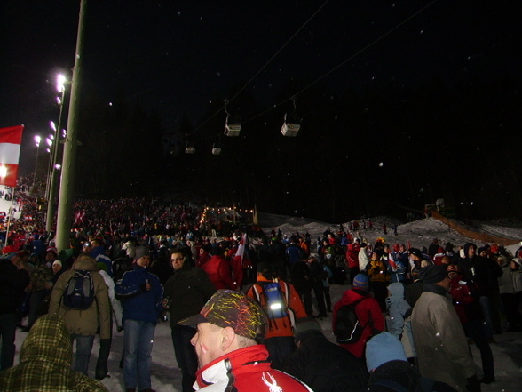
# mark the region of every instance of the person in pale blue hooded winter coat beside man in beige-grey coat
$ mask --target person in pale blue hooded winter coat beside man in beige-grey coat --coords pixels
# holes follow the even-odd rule
[[[386,329],[400,340],[408,361],[415,364],[416,353],[411,333],[412,308],[404,299],[404,284],[398,282],[388,286],[386,307]]]

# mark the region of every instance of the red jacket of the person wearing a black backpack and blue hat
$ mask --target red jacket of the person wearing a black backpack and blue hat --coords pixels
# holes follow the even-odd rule
[[[361,300],[363,298],[365,300]],[[381,313],[378,302],[372,298],[370,293],[357,289],[346,290],[341,300],[334,306],[332,326],[335,328],[337,311],[344,307],[344,305],[350,305],[357,300],[361,301],[355,306],[355,313],[360,324],[365,326],[364,331],[359,341],[349,344],[340,344],[340,346],[346,348],[354,356],[362,358],[364,356],[364,349],[366,348],[366,341],[373,335],[374,330],[379,332],[384,331],[384,316]]]

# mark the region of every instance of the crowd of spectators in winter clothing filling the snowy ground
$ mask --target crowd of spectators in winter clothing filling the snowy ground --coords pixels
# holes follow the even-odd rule
[[[123,331],[125,391],[152,392],[154,330],[169,320],[184,392],[257,383],[316,392],[475,392],[495,382],[494,334],[522,330],[522,254],[496,244],[369,244],[352,225],[328,229],[312,244],[308,233],[265,236],[246,222],[204,221],[202,207],[161,198],[75,205],[67,250],[57,252],[52,233],[34,224],[27,230],[27,222],[4,240],[6,390],[49,382],[53,390],[106,390],[99,380],[109,376],[112,334]],[[350,288],[332,303],[330,284]],[[328,313],[337,344],[317,321]],[[341,337],[350,315],[356,328]],[[17,327],[28,338],[14,365]],[[98,380],[90,380],[97,334]],[[480,378],[471,342],[480,350]],[[67,372],[46,365],[53,344],[63,349],[62,364],[73,364]]]

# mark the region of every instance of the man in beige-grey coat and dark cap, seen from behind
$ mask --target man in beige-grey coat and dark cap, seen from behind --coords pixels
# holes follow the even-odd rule
[[[459,392],[480,391],[463,327],[451,300],[446,266],[423,269],[423,294],[412,313],[412,332],[419,372],[431,380],[446,382]]]

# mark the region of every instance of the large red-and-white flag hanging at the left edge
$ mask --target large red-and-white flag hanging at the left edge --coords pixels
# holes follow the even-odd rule
[[[0,185],[16,187],[23,125],[0,128]]]

